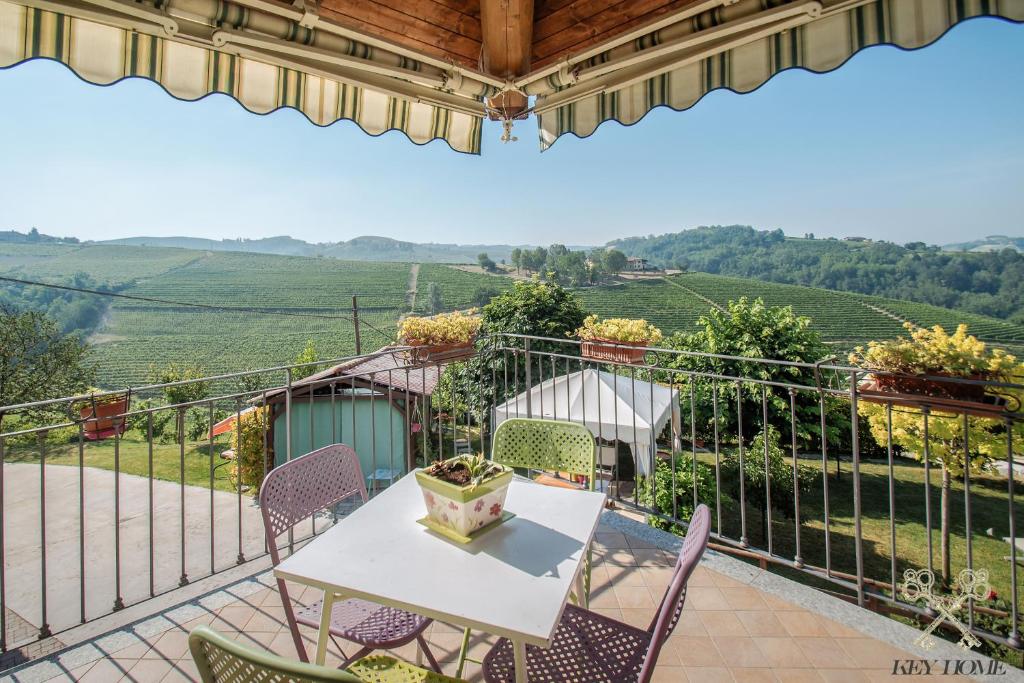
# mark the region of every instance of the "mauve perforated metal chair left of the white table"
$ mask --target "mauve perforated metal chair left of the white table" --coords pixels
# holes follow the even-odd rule
[[[362,468],[359,466],[359,457],[343,443],[324,446],[271,470],[263,479],[259,501],[273,565],[281,562],[278,538],[282,533],[316,512],[355,495],[360,496],[366,503],[368,497]],[[288,596],[288,587],[282,579],[278,580],[278,591],[285,605],[285,616],[292,630],[299,658],[309,661],[298,625],[319,628],[323,600],[294,610]],[[430,666],[439,673],[440,667],[423,638],[423,632],[430,623],[431,620],[425,616],[401,609],[366,600],[343,600],[335,603],[331,611],[331,639],[335,645],[338,645],[335,638],[340,636],[362,646],[352,656],[346,655],[342,650],[341,654],[345,658],[343,667],[374,650],[401,647],[415,640]],[[338,649],[341,650],[340,645]]]

